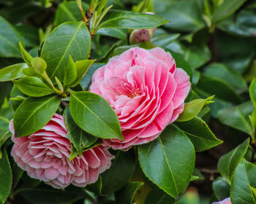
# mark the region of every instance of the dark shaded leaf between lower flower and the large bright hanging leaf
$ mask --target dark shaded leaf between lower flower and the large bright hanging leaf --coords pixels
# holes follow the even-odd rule
[[[118,151],[111,167],[101,174],[102,176],[102,195],[109,195],[116,192],[131,178],[135,170],[135,155],[129,152]]]

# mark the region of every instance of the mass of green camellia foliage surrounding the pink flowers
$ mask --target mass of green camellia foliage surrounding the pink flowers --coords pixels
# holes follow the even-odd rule
[[[89,4],[83,1],[82,7],[89,9]],[[89,33],[75,1],[0,2],[0,203],[189,204],[229,196],[234,204],[256,203],[255,1],[110,0],[104,7],[110,5],[101,22],[91,21],[95,29]],[[106,101],[84,91],[99,66],[135,46],[129,44],[132,29],[158,26],[151,43],[137,46],[164,48],[191,76],[192,91],[178,121],[149,144],[128,152],[113,151],[116,159],[111,168],[86,188],[57,190],[23,173],[10,156],[8,125],[13,115],[17,135],[27,136],[55,111],[64,112],[75,155],[94,145],[94,136],[122,137],[120,127],[110,122],[117,118]],[[65,111],[63,100],[49,95],[58,90],[29,72],[31,64],[44,67],[42,59],[53,87],[61,90],[57,76],[62,88],[76,91]],[[14,79],[18,80],[10,82]],[[94,106],[89,106],[89,98]],[[38,109],[34,102],[44,105]],[[100,106],[105,112],[97,111]],[[94,125],[86,118],[80,121],[77,107],[97,113]],[[38,118],[32,112],[42,120],[31,127]],[[78,134],[83,137],[75,137]]]

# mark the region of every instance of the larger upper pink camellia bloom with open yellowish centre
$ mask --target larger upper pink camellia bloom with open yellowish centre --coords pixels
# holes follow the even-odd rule
[[[121,124],[124,141],[105,144],[127,150],[154,140],[181,114],[189,89],[187,73],[159,47],[134,47],[110,58],[95,71],[89,88],[110,103]]]

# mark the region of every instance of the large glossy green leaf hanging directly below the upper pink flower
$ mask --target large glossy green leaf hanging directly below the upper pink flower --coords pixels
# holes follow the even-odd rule
[[[187,189],[195,165],[195,149],[184,132],[169,125],[138,148],[140,167],[149,180],[172,197]]]

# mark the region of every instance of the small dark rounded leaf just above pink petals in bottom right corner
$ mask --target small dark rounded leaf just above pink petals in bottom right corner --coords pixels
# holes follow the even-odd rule
[[[223,200],[230,196],[230,184],[224,177],[216,178],[212,183],[212,188],[218,200]]]

